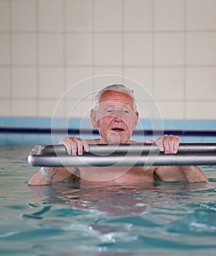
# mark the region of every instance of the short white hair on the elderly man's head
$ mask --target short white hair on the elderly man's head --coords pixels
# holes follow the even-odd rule
[[[134,101],[134,111],[136,111],[136,101],[134,98],[134,91],[131,89],[128,89],[123,84],[112,84],[111,86],[106,86],[104,89],[101,89],[94,98],[94,109],[97,111],[99,107],[99,99],[101,97],[101,94],[104,93],[104,91],[120,91],[125,94],[128,94]]]

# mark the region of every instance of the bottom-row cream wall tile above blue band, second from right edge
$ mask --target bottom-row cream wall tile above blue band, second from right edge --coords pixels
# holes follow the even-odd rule
[[[184,119],[184,102],[182,101],[157,101],[163,119]]]

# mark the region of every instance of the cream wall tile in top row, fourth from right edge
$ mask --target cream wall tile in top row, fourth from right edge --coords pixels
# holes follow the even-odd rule
[[[122,1],[94,0],[93,1],[93,30],[120,31],[122,30]]]

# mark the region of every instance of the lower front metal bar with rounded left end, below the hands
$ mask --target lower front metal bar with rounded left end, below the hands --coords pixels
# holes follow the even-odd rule
[[[216,154],[111,154],[109,156],[29,155],[34,166],[144,166],[144,165],[216,165]]]

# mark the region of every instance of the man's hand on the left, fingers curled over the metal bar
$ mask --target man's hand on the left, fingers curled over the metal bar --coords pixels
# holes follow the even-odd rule
[[[68,154],[82,155],[83,150],[89,151],[88,143],[85,140],[75,137],[62,138],[58,144],[66,147]]]

